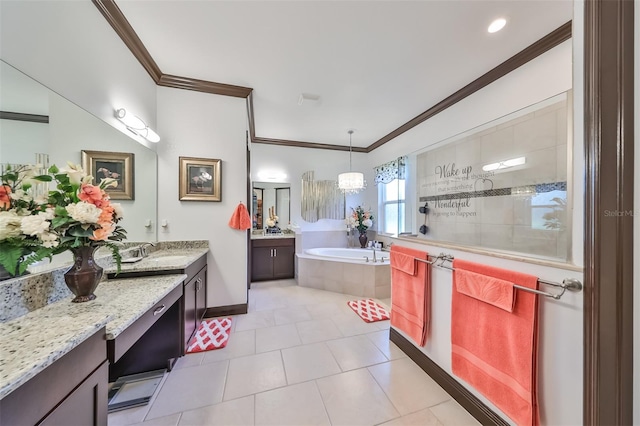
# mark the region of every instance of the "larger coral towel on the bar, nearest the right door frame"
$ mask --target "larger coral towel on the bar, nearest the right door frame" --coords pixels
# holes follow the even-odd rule
[[[538,299],[513,289],[513,284],[536,289],[537,277],[462,260],[453,267],[453,373],[516,424],[540,424]]]

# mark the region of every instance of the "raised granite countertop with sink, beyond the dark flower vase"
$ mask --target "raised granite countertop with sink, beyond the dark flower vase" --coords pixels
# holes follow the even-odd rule
[[[122,263],[120,273],[183,270],[208,252],[208,247],[157,250],[136,263]],[[115,272],[115,263],[104,268],[105,274],[114,274]]]

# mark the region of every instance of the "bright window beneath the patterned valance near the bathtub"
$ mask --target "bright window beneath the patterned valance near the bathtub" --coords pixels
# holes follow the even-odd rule
[[[405,180],[378,184],[378,232],[398,235],[405,229]]]

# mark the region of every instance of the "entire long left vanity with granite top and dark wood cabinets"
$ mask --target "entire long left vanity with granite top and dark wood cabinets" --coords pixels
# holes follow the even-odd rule
[[[0,424],[106,425],[110,381],[171,369],[184,354],[206,310],[207,252],[159,250],[103,280],[93,301],[71,303],[65,288],[62,298],[0,323]],[[1,286],[5,300],[33,305],[33,286],[20,296],[19,280],[10,281]],[[56,293],[59,281],[39,291]]]

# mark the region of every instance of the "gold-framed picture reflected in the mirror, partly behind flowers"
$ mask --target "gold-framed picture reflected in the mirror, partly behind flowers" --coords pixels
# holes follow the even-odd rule
[[[133,154],[130,152],[82,151],[82,168],[93,176],[93,183],[115,179],[118,186],[106,189],[112,200],[133,200]]]

